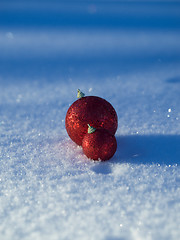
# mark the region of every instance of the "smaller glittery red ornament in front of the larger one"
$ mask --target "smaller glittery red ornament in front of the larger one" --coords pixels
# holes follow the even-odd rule
[[[106,129],[95,129],[89,126],[88,133],[83,138],[84,154],[93,160],[108,160],[116,152],[117,142],[114,135]]]

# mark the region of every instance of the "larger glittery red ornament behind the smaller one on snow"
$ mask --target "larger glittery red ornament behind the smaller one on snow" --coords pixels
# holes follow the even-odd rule
[[[78,145],[82,145],[88,129],[87,124],[95,128],[107,129],[111,134],[115,134],[118,126],[116,111],[103,98],[82,96],[69,107],[65,119],[67,133]]]

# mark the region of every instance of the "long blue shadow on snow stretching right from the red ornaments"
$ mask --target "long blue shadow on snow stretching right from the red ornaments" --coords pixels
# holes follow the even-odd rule
[[[112,162],[180,164],[180,135],[129,135],[117,137]]]

